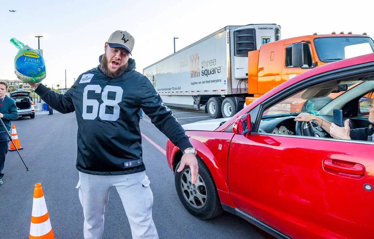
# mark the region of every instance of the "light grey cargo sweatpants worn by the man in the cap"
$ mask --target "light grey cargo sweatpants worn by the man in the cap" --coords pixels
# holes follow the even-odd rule
[[[79,200],[85,222],[85,239],[100,239],[104,230],[109,190],[116,187],[131,227],[133,239],[159,238],[152,219],[153,194],[145,171],[126,175],[92,175],[79,172]]]

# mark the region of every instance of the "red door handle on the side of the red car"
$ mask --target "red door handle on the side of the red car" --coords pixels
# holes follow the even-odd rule
[[[352,175],[364,175],[365,168],[364,166],[348,162],[348,161],[342,161],[342,160],[334,160],[334,159],[325,159],[324,160],[324,168],[330,169],[342,173],[349,173]]]

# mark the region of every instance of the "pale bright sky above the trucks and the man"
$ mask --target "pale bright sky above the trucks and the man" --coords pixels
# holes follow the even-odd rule
[[[12,37],[37,49],[46,61],[43,84],[67,87],[96,67],[104,44],[116,30],[134,36],[132,58],[143,69],[227,25],[276,23],[281,38],[367,32],[374,38],[374,1],[4,1],[0,0],[0,80],[16,79]],[[10,10],[17,10],[15,13]]]

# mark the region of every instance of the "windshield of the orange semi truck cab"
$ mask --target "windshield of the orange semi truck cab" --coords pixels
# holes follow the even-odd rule
[[[374,52],[370,37],[321,37],[314,39],[317,55],[322,62],[332,62]]]

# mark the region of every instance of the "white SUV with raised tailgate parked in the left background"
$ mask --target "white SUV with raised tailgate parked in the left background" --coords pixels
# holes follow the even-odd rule
[[[30,91],[16,90],[9,93],[9,96],[16,102],[19,117],[30,116],[35,118],[34,102],[30,97]]]

